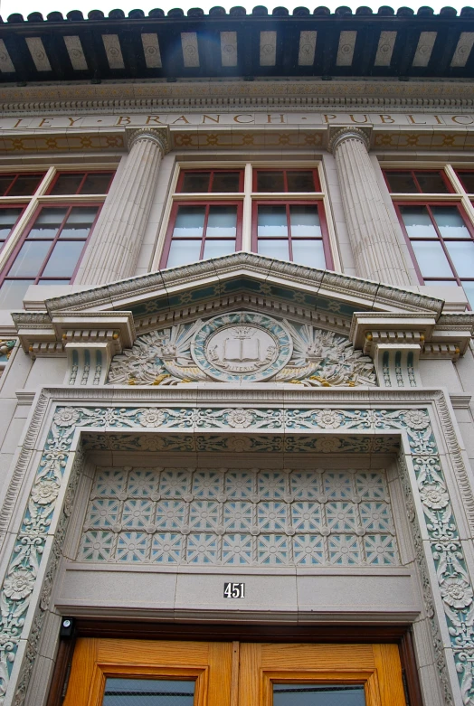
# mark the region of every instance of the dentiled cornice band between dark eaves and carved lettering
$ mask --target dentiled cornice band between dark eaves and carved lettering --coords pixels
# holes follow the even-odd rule
[[[433,85],[439,89],[433,91]],[[119,88],[120,98],[117,98]],[[75,111],[100,111],[104,108],[143,112],[150,108],[169,111],[170,108],[202,112],[204,107],[247,109],[251,106],[264,110],[279,108],[331,108],[356,107],[361,109],[389,108],[413,111],[423,108],[447,111],[474,105],[472,88],[463,81],[400,81],[384,80],[265,80],[236,81],[178,81],[156,83],[150,81],[113,81],[98,85],[33,85],[18,88],[3,87],[0,91],[3,112],[37,115],[41,110],[65,113]]]

